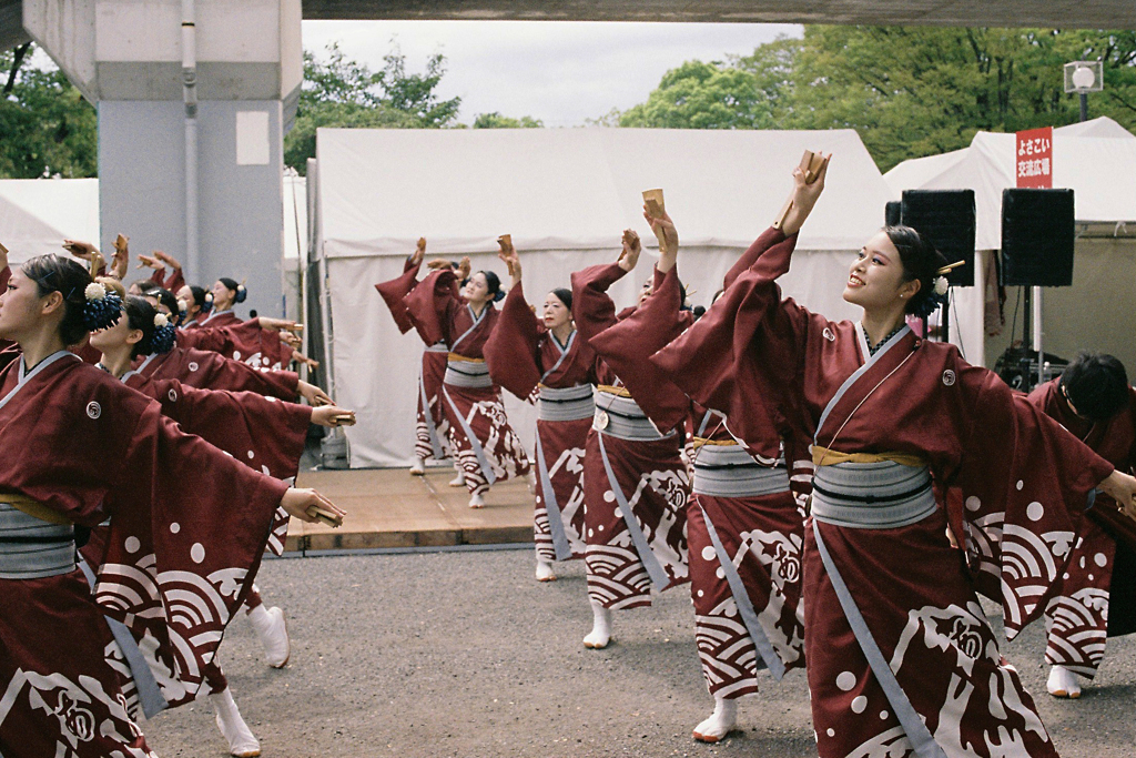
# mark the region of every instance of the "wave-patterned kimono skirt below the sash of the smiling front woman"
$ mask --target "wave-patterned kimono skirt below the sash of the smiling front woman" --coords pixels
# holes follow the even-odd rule
[[[899,528],[817,523],[903,695],[947,756],[1055,757],[1017,670],[1002,659],[946,516]],[[804,642],[821,758],[912,755],[818,552],[804,548]]]

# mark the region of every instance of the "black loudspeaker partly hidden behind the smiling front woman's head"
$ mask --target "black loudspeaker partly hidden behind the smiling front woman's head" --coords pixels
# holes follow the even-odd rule
[[[946,281],[953,286],[975,283],[975,191],[905,190],[900,211],[903,224],[930,240],[946,263],[964,261]]]

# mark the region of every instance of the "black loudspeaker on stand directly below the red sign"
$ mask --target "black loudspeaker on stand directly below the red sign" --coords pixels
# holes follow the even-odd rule
[[[1070,286],[1072,190],[1002,190],[1002,284]]]

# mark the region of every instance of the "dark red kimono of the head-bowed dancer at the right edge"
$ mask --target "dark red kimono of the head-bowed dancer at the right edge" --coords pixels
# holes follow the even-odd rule
[[[1029,401],[1117,470],[1131,472],[1136,463],[1136,390],[1129,388],[1124,410],[1096,424],[1072,413],[1059,380],[1036,388]],[[1125,516],[1097,522],[1095,515],[1117,506],[1106,494],[1097,493],[1096,498],[1089,517],[1081,519],[1061,592],[1045,607],[1045,661],[1088,678],[1096,675],[1106,638],[1136,632],[1136,553],[1128,547],[1136,544],[1136,522]]]

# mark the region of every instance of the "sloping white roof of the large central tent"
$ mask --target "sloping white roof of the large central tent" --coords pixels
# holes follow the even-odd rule
[[[805,149],[835,157],[799,247],[859,248],[889,193],[851,130],[321,128],[324,252],[404,256],[426,235],[432,253],[460,255],[496,249],[502,233],[523,250],[615,248],[623,228],[645,228],[651,188],[666,191],[684,245],[746,247]]]

